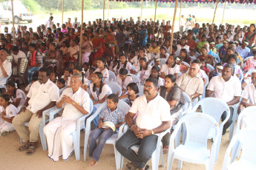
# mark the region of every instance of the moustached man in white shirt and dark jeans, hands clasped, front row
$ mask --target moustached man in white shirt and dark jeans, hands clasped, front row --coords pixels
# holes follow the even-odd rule
[[[117,140],[116,149],[131,161],[127,164],[128,169],[148,169],[146,163],[157,147],[157,134],[171,127],[170,105],[158,95],[156,79],[145,81],[144,95],[134,101],[126,123],[130,130]],[[137,154],[131,150],[134,145],[140,145]]]

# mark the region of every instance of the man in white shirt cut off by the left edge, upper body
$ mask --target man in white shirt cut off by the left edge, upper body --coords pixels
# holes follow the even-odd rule
[[[5,50],[0,50],[0,79],[7,78],[10,76],[12,70],[12,64],[6,60],[7,52]],[[0,86],[4,86],[6,80],[0,81]]]

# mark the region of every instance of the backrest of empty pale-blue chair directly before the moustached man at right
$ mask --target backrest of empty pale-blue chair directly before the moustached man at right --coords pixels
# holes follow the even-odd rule
[[[206,113],[213,117],[217,122],[220,121],[223,112],[228,112],[227,116],[230,115],[229,106],[218,98],[203,98],[196,103],[191,112],[195,112],[201,106],[201,112]]]

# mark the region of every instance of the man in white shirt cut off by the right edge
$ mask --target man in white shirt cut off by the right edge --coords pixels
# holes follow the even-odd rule
[[[256,69],[252,71],[252,84],[248,84],[242,94],[242,101],[238,109],[238,113],[243,107],[256,106]],[[247,102],[249,100],[249,102]]]

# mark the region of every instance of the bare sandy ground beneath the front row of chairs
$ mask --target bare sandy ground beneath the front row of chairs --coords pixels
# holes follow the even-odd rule
[[[89,167],[89,161],[83,161],[83,145],[84,145],[84,134],[81,134],[81,146],[80,146],[80,154],[81,160],[76,160],[75,155],[73,154],[69,160],[63,161],[59,160],[58,162],[53,162],[47,157],[47,151],[42,150],[41,143],[39,144],[39,148],[33,155],[27,156],[25,152],[18,152],[16,149],[21,145],[19,143],[19,135],[16,132],[10,132],[5,137],[0,137],[0,169],[1,170],[111,170],[115,169],[115,159],[114,159],[114,148],[112,145],[106,145],[103,149],[101,158],[96,166],[93,168]],[[211,142],[209,142],[211,144]],[[214,165],[214,170],[220,170],[222,168],[223,157],[226,152],[227,147],[229,146],[229,133],[222,137],[220,152],[218,155],[217,163]],[[88,157],[88,156],[87,156]],[[164,154],[164,167],[160,167],[160,170],[166,169],[167,167],[167,154]],[[125,160],[124,165],[127,163]],[[148,162],[148,165],[151,166],[151,161]],[[174,164],[172,169],[177,169],[178,161],[174,160]],[[193,163],[184,163],[183,162],[183,170],[200,170],[205,169],[203,165],[197,165]]]

